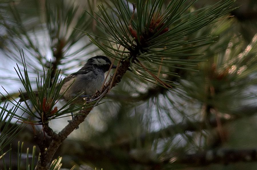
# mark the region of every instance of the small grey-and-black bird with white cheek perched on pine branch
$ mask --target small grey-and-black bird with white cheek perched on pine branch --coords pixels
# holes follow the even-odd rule
[[[59,95],[62,95],[64,101],[69,101],[76,96],[81,96],[81,94],[83,94],[81,97],[94,94],[97,90],[101,89],[105,78],[104,73],[108,71],[110,67],[111,69],[117,68],[115,65],[111,66],[111,61],[106,56],[94,56],[89,58],[81,69],[64,78]],[[56,85],[56,87],[58,86],[59,84]],[[34,93],[37,95],[37,91],[34,91]],[[21,96],[23,96],[23,99]],[[20,101],[29,99],[27,93],[22,93],[19,97],[21,98]],[[77,99],[71,104],[81,101],[83,100]],[[73,113],[71,113],[71,115],[73,119]],[[68,122],[70,122],[70,120],[68,120]]]

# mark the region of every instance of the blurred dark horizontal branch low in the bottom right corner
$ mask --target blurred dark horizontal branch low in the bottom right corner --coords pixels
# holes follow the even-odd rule
[[[161,169],[162,166],[176,164],[190,165],[192,166],[206,166],[212,163],[229,164],[233,162],[255,162],[257,161],[257,149],[220,149],[220,150],[209,150],[195,154],[178,154],[165,156],[155,161],[151,154],[140,155],[134,158],[134,162],[142,164],[142,160],[147,160],[147,165],[152,167],[158,167]]]

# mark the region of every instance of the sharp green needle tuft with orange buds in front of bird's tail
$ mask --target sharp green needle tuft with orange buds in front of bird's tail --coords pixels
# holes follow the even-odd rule
[[[59,100],[62,99],[63,94],[60,95],[60,90],[65,81],[64,79],[59,79],[60,70],[56,71],[53,80],[51,79],[53,69],[49,69],[46,74],[44,71],[43,78],[40,78],[39,74],[38,74],[38,77],[36,79],[37,92],[35,92],[35,90],[31,87],[31,83],[30,83],[31,81],[29,79],[24,54],[23,54],[23,56],[21,56],[21,58],[22,58],[22,62],[23,62],[24,75],[21,72],[21,69],[19,68],[18,65],[17,65],[17,69],[15,69],[15,71],[17,72],[17,74],[21,80],[21,83],[24,86],[27,97],[25,97],[23,92],[20,91],[21,99],[19,101],[16,101],[13,98],[12,98],[13,101],[9,100],[9,99],[8,100],[13,105],[17,106],[17,108],[20,108],[23,111],[23,114],[27,113],[30,116],[32,116],[33,118],[38,119],[36,121],[35,120],[32,121],[30,116],[27,118],[27,117],[24,117],[23,115],[18,115],[15,112],[9,111],[10,114],[15,116],[22,122],[45,124],[52,119],[63,116],[64,114],[82,110],[84,108],[90,107],[95,104],[95,102],[87,103],[87,104],[85,104],[83,102],[78,103],[78,104],[72,104],[72,103],[74,103],[74,101],[77,101],[77,99],[79,98],[79,96],[74,96],[70,101],[68,101],[61,108],[57,108],[55,105]],[[50,64],[50,68],[51,68],[51,64]],[[67,91],[67,89],[66,89],[66,91]],[[65,93],[66,91],[64,91],[63,93]],[[30,103],[32,104],[33,108],[31,108],[31,106],[29,106],[29,103],[26,101],[27,99],[30,99]],[[81,99],[81,100],[83,101],[83,99]],[[24,102],[26,107],[21,105],[21,102]],[[7,111],[7,109],[5,107],[0,106],[0,108]]]

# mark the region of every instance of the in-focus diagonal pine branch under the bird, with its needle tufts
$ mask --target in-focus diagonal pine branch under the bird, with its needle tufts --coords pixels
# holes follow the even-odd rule
[[[48,122],[53,118],[61,116],[62,114],[64,114],[65,111],[67,113],[69,109],[72,110],[74,108],[72,108],[73,106],[70,106],[64,112],[59,110],[57,112],[57,109],[55,109],[56,111],[51,114],[52,111],[54,111],[54,102],[60,99],[58,98],[58,89],[56,90],[56,94],[54,94],[55,89],[50,87],[50,79],[44,79],[43,82],[39,82],[38,76],[37,87],[38,91],[42,93],[41,96],[38,95],[38,97],[36,97],[33,93],[28,94],[32,99],[31,102],[35,107],[36,113],[39,114],[39,116],[35,114],[35,112],[32,112],[32,110],[26,111],[25,109],[23,109],[24,112],[28,112],[31,114],[31,116],[38,118],[38,123],[42,124],[45,132],[49,136],[51,136],[51,143],[49,145],[46,144],[42,139],[38,140],[41,155],[37,164],[37,169],[49,169],[50,162],[53,159],[55,152],[63,143],[65,138],[67,138],[67,136],[81,122],[84,121],[89,112],[93,109],[97,102],[99,102],[100,99],[106,95],[108,90],[121,81],[121,78],[123,77],[125,72],[129,70],[129,67],[130,70],[133,70],[135,74],[146,79],[149,82],[154,83],[158,81],[158,85],[166,88],[172,88],[174,83],[170,80],[167,80],[167,76],[159,77],[160,73],[166,75],[173,74],[172,72],[167,72],[164,67],[182,68],[182,66],[184,67],[185,65],[196,65],[196,63],[198,63],[200,60],[188,60],[188,58],[190,56],[199,56],[200,54],[187,54],[186,52],[213,42],[213,38],[209,36],[193,38],[189,40],[184,39],[184,36],[187,36],[195,32],[196,30],[206,26],[207,24],[214,22],[214,20],[221,15],[231,11],[229,7],[233,3],[233,1],[227,0],[223,3],[216,4],[216,6],[213,6],[213,9],[211,7],[208,7],[200,10],[200,12],[194,11],[187,13],[186,11],[193,1],[190,1],[190,3],[188,3],[188,1],[186,0],[172,1],[167,6],[167,8],[164,8],[164,11],[162,11],[161,9],[163,2],[164,1],[155,1],[154,3],[152,3],[151,1],[137,1],[137,21],[134,21],[133,17],[131,17],[129,7],[124,4],[124,1],[113,0],[113,3],[119,13],[119,15],[117,16],[117,22],[114,17],[112,18],[109,16],[103,5],[99,7],[99,11],[101,12],[102,17],[99,16],[101,20],[96,21],[101,24],[103,30],[107,30],[107,33],[109,33],[110,35],[110,37],[108,38],[111,38],[113,42],[117,43],[117,45],[123,46],[125,48],[123,51],[119,50],[119,48],[114,49],[111,43],[110,46],[108,46],[106,44],[102,44],[99,41],[96,41],[93,37],[90,36],[91,34],[89,35],[89,33],[87,33],[87,35],[89,36],[91,41],[108,56],[115,58],[116,60],[122,59],[121,66],[117,69],[117,74],[107,82],[102,92],[98,92],[85,100],[85,102],[94,105],[86,105],[86,108],[84,107],[83,110],[81,110],[82,106],[78,106],[76,109],[80,110],[79,115],[75,116],[75,118],[71,122],[69,122],[69,124],[65,126],[65,128],[63,128],[63,130],[61,130],[58,134],[55,134],[53,130],[48,126]],[[72,12],[73,8],[70,9],[70,12]],[[192,15],[192,17],[188,19],[190,15]],[[134,13],[132,16],[134,16]],[[51,19],[50,14],[48,16],[48,19]],[[67,20],[67,23],[71,23],[72,19],[73,18],[69,18]],[[56,21],[59,22],[58,18]],[[84,24],[87,24],[87,22],[84,22]],[[51,27],[51,25],[49,26]],[[60,29],[62,28],[54,27],[53,29],[49,30],[59,32]],[[53,34],[51,33],[51,35]],[[61,38],[62,37],[59,37],[59,39]],[[103,39],[107,40],[105,37]],[[60,43],[59,45],[62,44]],[[59,63],[58,60],[62,58],[61,49],[63,49],[63,46],[57,49],[57,54],[55,55],[56,68],[57,64]],[[110,50],[114,50],[115,54],[111,53]],[[135,61],[137,61],[137,63]],[[177,67],[177,64],[179,64],[180,66]],[[155,66],[159,69],[155,69]],[[163,66],[162,69],[161,66]],[[54,69],[56,69],[55,67]],[[18,72],[21,73],[20,70],[18,70],[17,73]],[[27,72],[27,69],[25,69],[25,72]],[[53,70],[53,72],[49,74],[53,75],[54,73],[55,70]],[[174,73],[174,75],[175,74],[176,73]],[[59,74],[55,73],[55,77],[58,77],[58,75]],[[26,74],[25,78],[23,78],[22,76],[20,78],[23,82],[23,85],[25,86],[26,91],[31,92],[32,88],[29,83],[28,75]],[[41,86],[41,84],[44,84],[43,87]],[[57,78],[54,80],[53,87],[56,84]],[[48,93],[47,89],[50,89]],[[46,101],[47,99],[51,101]],[[96,103],[92,103],[92,101],[96,101]],[[45,109],[46,104],[48,104],[47,108],[49,109]],[[47,110],[47,112],[45,110]],[[23,118],[21,116],[19,118],[26,121],[26,118]],[[150,161],[145,161],[145,159],[138,159],[134,156],[130,157],[130,160],[132,162],[135,161],[141,163],[151,163],[152,160],[149,159]]]

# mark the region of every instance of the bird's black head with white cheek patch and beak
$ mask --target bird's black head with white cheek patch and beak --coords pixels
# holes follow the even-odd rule
[[[93,65],[95,67],[103,69],[103,71],[106,72],[111,66],[111,61],[106,56],[95,56],[87,60],[87,65]],[[111,68],[116,68],[116,66],[112,65]]]

